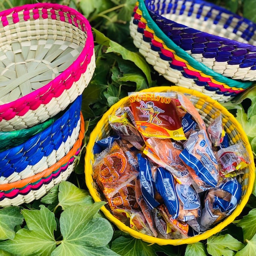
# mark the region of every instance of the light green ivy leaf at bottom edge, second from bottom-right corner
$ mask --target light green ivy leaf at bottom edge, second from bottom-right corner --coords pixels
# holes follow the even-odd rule
[[[221,236],[210,236],[207,239],[207,251],[212,256],[233,256],[234,251],[239,251],[244,244],[226,234]]]

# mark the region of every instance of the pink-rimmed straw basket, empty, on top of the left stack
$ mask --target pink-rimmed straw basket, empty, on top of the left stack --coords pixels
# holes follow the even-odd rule
[[[44,122],[93,76],[93,34],[74,9],[36,3],[0,12],[0,131]]]

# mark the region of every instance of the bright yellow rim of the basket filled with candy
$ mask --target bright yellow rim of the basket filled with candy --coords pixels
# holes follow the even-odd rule
[[[248,151],[248,154],[249,154],[249,157],[250,157],[250,160],[251,160],[251,164],[249,166],[250,179],[248,181],[247,190],[246,190],[240,204],[236,207],[236,209],[233,211],[233,213],[231,215],[229,215],[227,218],[224,219],[224,221],[220,222],[219,224],[217,224],[212,229],[207,230],[202,234],[198,234],[196,236],[192,236],[192,237],[189,237],[189,238],[186,238],[186,239],[161,239],[161,238],[155,238],[153,236],[148,236],[148,235],[142,234],[140,232],[132,230],[130,227],[126,226],[124,223],[122,223],[117,218],[115,218],[108,211],[108,209],[105,206],[102,206],[101,210],[105,214],[105,216],[111,222],[113,222],[120,230],[122,230],[126,233],[129,233],[131,236],[133,236],[137,239],[142,239],[143,241],[146,241],[146,242],[151,243],[151,244],[157,243],[157,244],[160,244],[160,245],[192,244],[192,243],[207,239],[210,236],[214,235],[215,233],[218,233],[224,227],[226,227],[228,224],[230,224],[232,221],[234,221],[234,219],[241,213],[242,209],[245,207],[245,205],[246,205],[246,203],[247,203],[247,201],[250,197],[250,194],[253,190],[253,183],[254,183],[254,179],[255,179],[255,166],[254,166],[254,160],[253,160],[253,153],[252,153],[248,138],[247,138],[245,132],[243,131],[241,125],[236,120],[236,118],[229,111],[227,111],[227,109],[224,108],[220,103],[218,103],[214,99],[211,99],[209,96],[204,95],[203,93],[200,93],[197,90],[187,89],[187,88],[183,88],[183,87],[179,87],[179,86],[151,87],[151,88],[142,90],[141,92],[164,92],[164,91],[167,91],[167,90],[176,91],[176,92],[180,92],[180,93],[184,93],[184,94],[191,94],[191,95],[206,99],[207,102],[212,104],[214,107],[220,109],[221,113],[224,113],[226,116],[228,116],[231,122],[236,123],[236,128],[238,129],[238,131],[241,134],[241,140],[243,140],[244,145],[245,145],[245,147]],[[88,188],[88,190],[90,192],[90,195],[92,196],[94,201],[101,201],[101,199],[97,195],[96,189],[92,185],[93,184],[93,177],[92,177],[93,169],[92,169],[92,166],[90,164],[90,157],[92,156],[92,152],[93,152],[93,145],[95,143],[94,139],[99,134],[99,131],[101,131],[102,125],[105,124],[104,120],[108,119],[108,116],[111,113],[113,113],[115,110],[117,110],[117,108],[119,108],[125,102],[127,102],[128,99],[129,98],[127,96],[127,97],[121,99],[116,104],[112,105],[111,108],[102,116],[102,119],[97,123],[96,127],[93,129],[93,131],[90,134],[90,139],[89,139],[89,142],[87,143],[87,147],[86,147],[84,172],[85,172],[85,181],[86,181],[87,188]],[[87,153],[87,152],[89,152],[89,153]]]

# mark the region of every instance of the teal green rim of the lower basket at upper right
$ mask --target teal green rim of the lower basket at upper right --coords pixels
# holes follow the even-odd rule
[[[192,66],[197,70],[200,70],[202,73],[205,73],[208,76],[212,76],[216,81],[223,82],[230,87],[247,89],[253,84],[253,81],[238,81],[235,79],[230,79],[226,76],[216,73],[214,70],[205,66],[202,62],[196,61],[191,55],[189,55],[189,53],[187,53],[182,48],[177,46],[166,34],[163,33],[163,31],[159,28],[159,26],[157,26],[157,24],[154,22],[152,17],[149,15],[148,9],[145,6],[144,0],[137,0],[137,1],[138,1],[138,8],[142,12],[143,18],[145,18],[145,20],[147,21],[148,27],[154,30],[154,33],[157,35],[157,37],[160,38],[166,44],[167,47],[169,47],[170,49],[173,49],[179,57],[188,61],[190,66]]]

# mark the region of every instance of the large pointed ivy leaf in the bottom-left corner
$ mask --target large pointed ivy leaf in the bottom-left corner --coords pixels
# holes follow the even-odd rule
[[[40,210],[22,210],[28,229],[18,230],[14,239],[0,243],[0,249],[19,256],[51,254],[56,247],[53,235],[56,230],[55,216],[44,205],[40,208]]]

